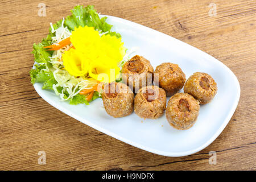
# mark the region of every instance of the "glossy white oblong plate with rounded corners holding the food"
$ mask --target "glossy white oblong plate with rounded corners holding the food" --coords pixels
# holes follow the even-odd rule
[[[144,120],[132,113],[114,119],[106,113],[101,98],[90,105],[69,105],[60,101],[54,92],[43,90],[42,84],[34,85],[36,92],[49,104],[82,123],[155,154],[185,156],[212,143],[228,124],[240,98],[240,85],[234,73],[214,57],[171,36],[113,16],[108,16],[107,21],[122,35],[125,47],[139,47],[134,54],[146,57],[154,68],[171,62],[179,64],[186,78],[194,72],[206,72],[214,78],[218,92],[209,104],[201,106],[195,125],[189,130],[176,130],[168,124],[165,115],[156,120]]]

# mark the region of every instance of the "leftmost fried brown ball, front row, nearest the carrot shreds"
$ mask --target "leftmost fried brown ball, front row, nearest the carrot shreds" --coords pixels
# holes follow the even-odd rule
[[[106,112],[114,118],[133,113],[134,94],[129,86],[121,82],[104,85],[102,101]]]

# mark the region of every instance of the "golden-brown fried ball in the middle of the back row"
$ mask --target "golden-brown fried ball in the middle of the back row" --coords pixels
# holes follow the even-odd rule
[[[183,88],[186,81],[185,73],[183,73],[179,65],[172,63],[158,65],[155,69],[154,76],[158,76],[159,87],[166,90],[167,96],[172,96],[178,92]]]

